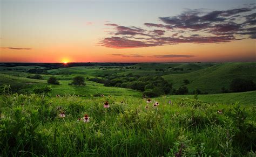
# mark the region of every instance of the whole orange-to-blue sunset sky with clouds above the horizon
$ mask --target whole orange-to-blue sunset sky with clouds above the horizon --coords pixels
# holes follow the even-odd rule
[[[0,0],[0,62],[256,61],[256,4]]]

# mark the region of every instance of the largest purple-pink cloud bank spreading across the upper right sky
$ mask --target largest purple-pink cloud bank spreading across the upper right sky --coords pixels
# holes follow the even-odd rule
[[[101,39],[99,44],[111,48],[138,48],[255,39],[255,9],[255,6],[210,12],[187,9],[177,16],[159,17],[159,24],[144,23],[145,28],[109,23],[105,25],[113,27],[107,32],[111,37]]]

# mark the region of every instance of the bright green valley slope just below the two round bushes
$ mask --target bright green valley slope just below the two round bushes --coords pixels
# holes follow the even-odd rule
[[[51,96],[57,94],[75,94],[81,96],[90,96],[95,94],[116,95],[116,96],[141,96],[140,92],[131,89],[104,87],[103,84],[85,81],[86,85],[74,86],[68,85],[72,80],[60,80],[60,85],[49,85],[46,80],[28,79],[25,77],[10,76],[0,74],[0,85],[10,84],[12,88],[16,88],[15,92],[31,93],[32,89],[38,86],[49,85],[52,88]]]

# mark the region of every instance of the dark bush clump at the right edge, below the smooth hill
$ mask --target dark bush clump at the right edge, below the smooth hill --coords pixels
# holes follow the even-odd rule
[[[252,80],[233,79],[230,84],[230,90],[233,92],[252,91],[255,89],[255,84]]]

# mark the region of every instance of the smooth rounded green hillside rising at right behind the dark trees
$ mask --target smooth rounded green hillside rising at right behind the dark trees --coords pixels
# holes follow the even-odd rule
[[[173,83],[174,88],[183,85],[187,79],[190,84],[186,85],[192,91],[199,89],[209,94],[219,93],[222,87],[229,89],[230,82],[235,78],[250,79],[256,82],[256,63],[223,63],[196,72],[186,74],[164,75],[163,78]]]

